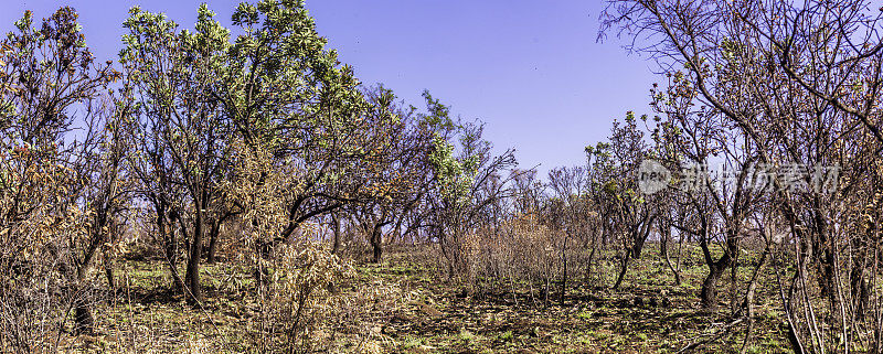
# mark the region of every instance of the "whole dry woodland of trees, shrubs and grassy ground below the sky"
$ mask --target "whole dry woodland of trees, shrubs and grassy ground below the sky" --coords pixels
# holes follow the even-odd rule
[[[658,83],[547,175],[301,0],[193,10],[2,24],[0,353],[883,352],[876,2],[606,0]]]

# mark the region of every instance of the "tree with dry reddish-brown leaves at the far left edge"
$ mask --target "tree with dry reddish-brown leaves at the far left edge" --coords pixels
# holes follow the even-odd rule
[[[85,319],[77,329],[91,330],[83,275],[100,236],[83,203],[96,131],[65,135],[113,115],[100,97],[118,74],[95,62],[76,19],[61,8],[38,29],[26,11],[0,42],[0,342],[24,352],[53,347],[41,333],[72,308]]]

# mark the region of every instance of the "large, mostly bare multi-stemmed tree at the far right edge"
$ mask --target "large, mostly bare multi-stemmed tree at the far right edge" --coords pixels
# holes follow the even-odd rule
[[[685,84],[677,85],[683,92],[662,95],[664,99],[684,97],[708,107],[699,110],[720,117],[715,126],[725,135],[736,132],[745,147],[746,158],[738,160],[779,173],[791,169],[788,173],[797,175],[772,179],[770,202],[759,211],[765,219],[785,224],[799,245],[794,250],[774,247],[801,265],[794,269],[790,285],[783,285],[783,290],[796,289],[789,290],[784,307],[797,352],[849,350],[847,337],[865,346],[880,343],[879,335],[854,330],[869,325],[857,319],[866,309],[869,293],[862,290],[865,255],[877,246],[865,238],[871,224],[849,216],[874,221],[863,208],[875,203],[870,191],[877,190],[871,181],[877,180],[879,169],[868,161],[879,160],[883,141],[877,107],[880,18],[870,2],[859,0],[610,1],[604,15],[603,30],[618,28],[629,36],[649,36],[641,42],[651,43],[648,46],[630,49],[651,53],[669,74],[677,75],[683,66],[680,75]],[[819,187],[830,168],[842,172],[842,179],[830,189]],[[721,216],[741,214],[728,210]],[[727,232],[735,219],[726,219]],[[844,249],[850,253],[841,258]],[[774,265],[778,267],[778,261]],[[823,308],[813,309],[809,300],[810,278],[827,299]],[[849,299],[852,291],[844,283],[858,296]],[[844,310],[845,299],[852,301],[852,310]],[[838,333],[840,340],[806,324],[818,323],[818,313],[826,313],[833,329],[827,333]]]

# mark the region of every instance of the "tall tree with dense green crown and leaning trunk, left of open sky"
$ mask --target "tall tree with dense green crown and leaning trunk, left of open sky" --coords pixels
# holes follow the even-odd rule
[[[302,1],[241,3],[241,30],[230,49],[224,84],[216,92],[245,147],[270,153],[298,179],[284,196],[288,223],[266,248],[290,240],[298,226],[358,200],[368,104],[350,66],[316,32]],[[285,167],[283,167],[285,165]]]

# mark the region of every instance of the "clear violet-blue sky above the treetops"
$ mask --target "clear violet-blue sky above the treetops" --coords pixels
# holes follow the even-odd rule
[[[131,6],[192,28],[204,1],[2,0],[0,31],[24,10],[38,19],[67,4],[79,12],[96,57],[116,60]],[[238,1],[208,1],[230,25]],[[584,162],[626,110],[649,110],[658,81],[646,57],[611,37],[595,42],[600,1],[307,0],[319,33],[366,84],[383,83],[423,107],[424,88],[464,118],[487,122],[498,150],[514,147],[522,168]]]

